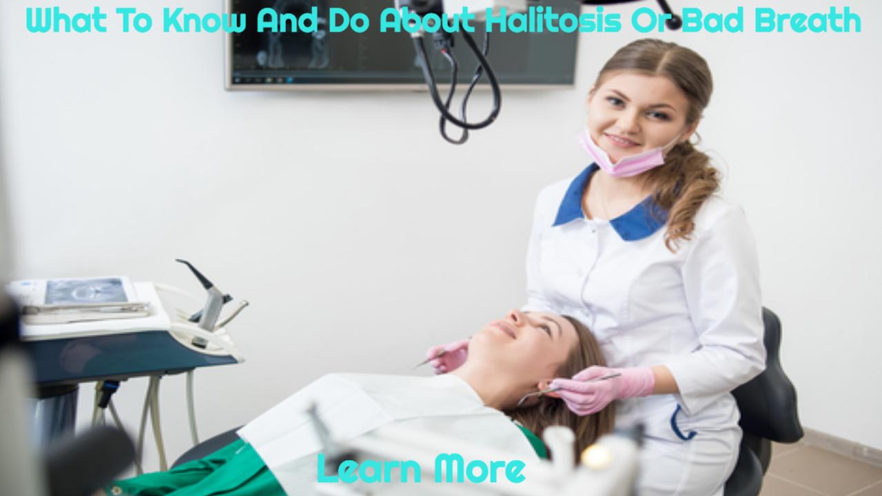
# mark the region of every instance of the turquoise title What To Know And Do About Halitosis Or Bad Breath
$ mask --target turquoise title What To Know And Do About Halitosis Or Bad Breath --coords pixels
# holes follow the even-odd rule
[[[744,7],[732,11],[703,11],[684,7],[680,11],[684,33],[860,33],[861,17],[848,6],[832,6],[827,11],[782,12],[772,7],[757,7],[747,16]],[[159,22],[154,22],[154,17]],[[641,7],[628,22],[619,12],[602,6],[591,11],[558,12],[550,6],[534,5],[527,11],[487,9],[439,15],[417,15],[407,7],[380,11],[375,19],[364,12],[350,12],[340,7],[319,11],[312,7],[299,15],[277,12],[271,8],[258,11],[254,19],[244,13],[191,12],[183,7],[165,7],[156,16],[134,7],[119,7],[112,14],[95,6],[91,11],[65,11],[61,7],[27,7],[26,27],[31,33],[107,33],[113,26],[122,33],[146,33],[159,28],[164,33],[617,33],[628,26],[637,33],[662,33],[668,29],[670,14]],[[253,25],[251,24],[253,23]]]

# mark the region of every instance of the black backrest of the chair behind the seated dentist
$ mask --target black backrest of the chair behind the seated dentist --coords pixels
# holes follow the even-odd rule
[[[766,327],[766,370],[732,391],[741,410],[741,427],[776,442],[793,443],[803,437],[803,426],[796,412],[796,388],[781,369],[781,320],[763,308]]]

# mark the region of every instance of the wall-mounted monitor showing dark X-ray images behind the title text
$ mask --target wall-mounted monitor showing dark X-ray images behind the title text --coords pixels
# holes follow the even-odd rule
[[[415,49],[406,32],[380,32],[380,12],[394,0],[227,0],[227,11],[245,14],[242,33],[226,34],[226,87],[229,90],[400,89],[423,88],[425,81]],[[575,0],[546,0],[555,12],[579,15]],[[258,12],[271,8],[299,17],[318,9],[318,17],[333,7],[350,14],[363,12],[369,29],[328,33],[258,33]],[[425,34],[430,63],[439,83],[450,81],[450,66],[432,48]],[[480,47],[483,24],[475,24]],[[504,87],[572,87],[578,33],[491,33],[488,59]],[[460,64],[459,81],[467,83],[475,71],[475,56],[461,34],[454,34],[453,54]],[[481,84],[486,86],[484,77]]]

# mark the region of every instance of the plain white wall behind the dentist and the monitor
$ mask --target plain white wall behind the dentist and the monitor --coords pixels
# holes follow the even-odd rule
[[[196,292],[180,257],[250,300],[233,327],[249,361],[198,373],[203,435],[324,372],[408,373],[430,344],[521,304],[534,196],[587,164],[575,141],[587,87],[639,37],[627,26],[583,35],[574,89],[508,92],[497,124],[452,147],[428,94],[227,93],[220,34],[28,34],[29,4],[0,3],[14,276],[129,274]],[[94,4],[119,5],[64,7]],[[804,425],[882,448],[882,4],[833,4],[859,13],[864,32],[661,37],[714,71],[699,132],[756,232]],[[128,425],[144,382],[117,395]],[[189,440],[183,378],[164,384],[174,457]]]

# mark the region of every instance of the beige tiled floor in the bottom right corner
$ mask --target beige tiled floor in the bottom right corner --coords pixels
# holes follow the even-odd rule
[[[760,496],[882,496],[882,469],[818,447],[775,444]]]

